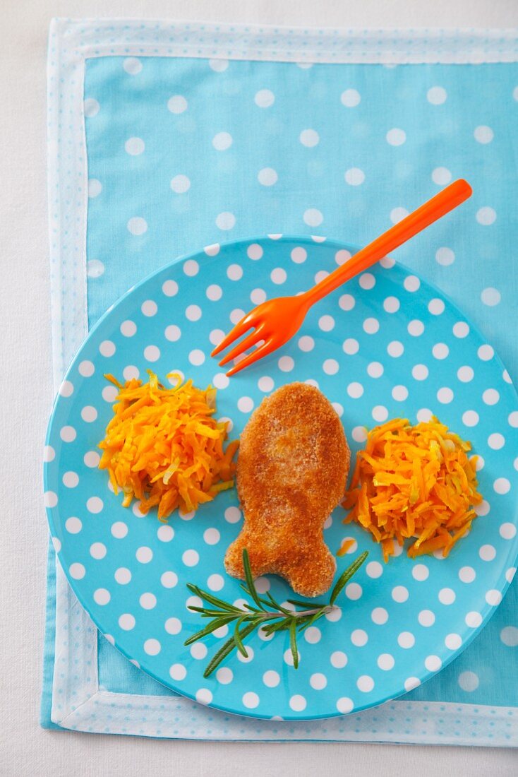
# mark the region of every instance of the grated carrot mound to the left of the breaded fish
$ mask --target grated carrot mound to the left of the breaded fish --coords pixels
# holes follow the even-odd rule
[[[155,373],[148,375],[147,383],[131,378],[124,385],[105,375],[119,393],[99,443],[99,469],[108,470],[115,493],[122,490],[123,507],[134,498],[144,514],[158,505],[165,521],[177,507],[196,510],[234,485],[239,441],[224,450],[227,423],[213,418],[216,389],[196,389],[175,373],[168,378],[178,378],[176,385],[166,389]]]

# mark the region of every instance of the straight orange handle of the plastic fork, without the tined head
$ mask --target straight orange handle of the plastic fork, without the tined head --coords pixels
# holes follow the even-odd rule
[[[391,251],[402,246],[404,242],[422,232],[423,229],[433,224],[438,218],[453,211],[454,207],[460,205],[471,197],[471,186],[468,181],[460,178],[450,186],[440,191],[431,200],[427,200],[417,210],[405,216],[402,221],[398,221],[393,227],[384,232],[378,238],[370,242],[368,246],[360,249],[354,256],[351,256],[346,263],[338,267],[331,274],[321,280],[319,284],[308,289],[304,293],[304,298],[308,302],[308,308],[314,305],[316,301],[330,294],[350,280],[352,277],[367,270],[374,263],[383,259]]]

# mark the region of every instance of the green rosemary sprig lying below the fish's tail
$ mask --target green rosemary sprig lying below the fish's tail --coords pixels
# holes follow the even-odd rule
[[[304,631],[308,626],[315,623],[315,621],[318,621],[318,618],[322,618],[322,615],[331,612],[335,608],[335,601],[339,594],[344,587],[346,587],[346,584],[351,577],[353,577],[353,574],[360,569],[360,566],[365,559],[367,559],[367,556],[368,552],[363,552],[347,567],[345,572],[342,572],[331,591],[329,604],[322,605],[321,602],[316,603],[301,601],[300,599],[288,599],[287,601],[290,605],[294,605],[294,607],[298,608],[294,610],[288,610],[280,605],[269,591],[266,591],[266,597],[259,596],[252,577],[249,554],[246,549],[243,550],[245,583],[242,584],[242,589],[245,591],[245,594],[248,594],[252,599],[253,604],[245,602],[243,607],[236,607],[228,601],[224,601],[223,599],[217,598],[217,596],[213,596],[213,594],[209,594],[208,591],[203,591],[203,588],[188,583],[187,587],[189,588],[189,591],[202,599],[203,602],[206,602],[207,605],[210,605],[210,607],[207,605],[203,605],[202,607],[189,605],[189,610],[199,612],[202,618],[210,618],[210,622],[203,629],[196,632],[196,634],[189,636],[189,639],[186,639],[186,642],[184,643],[185,645],[192,645],[194,642],[197,642],[198,639],[203,639],[216,631],[216,629],[220,629],[221,626],[234,624],[234,633],[230,639],[217,650],[217,653],[214,653],[207,669],[203,672],[203,677],[208,678],[233,650],[238,650],[243,657],[248,658],[249,654],[246,652],[243,640],[261,627],[266,636],[280,631],[290,632],[290,650],[293,657],[294,668],[297,669],[297,632],[300,633]]]

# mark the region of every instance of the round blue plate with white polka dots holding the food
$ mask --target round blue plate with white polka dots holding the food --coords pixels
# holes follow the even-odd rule
[[[401,695],[464,650],[499,605],[518,549],[518,402],[493,348],[440,291],[386,259],[313,308],[287,347],[230,380],[210,350],[243,312],[266,298],[303,291],[349,257],[323,238],[268,238],[207,246],[130,289],[94,326],[61,385],[45,448],[45,503],[61,566],[107,639],[175,691],[231,713],[286,720],[330,717]],[[339,571],[363,550],[367,563],[341,594],[342,609],[301,637],[291,665],[286,633],[249,639],[210,678],[209,658],[226,628],[186,647],[200,629],[189,611],[191,582],[228,601],[242,598],[224,553],[242,523],[235,490],[197,514],[161,524],[124,508],[97,469],[97,444],[112,415],[113,385],[151,368],[176,370],[218,389],[217,411],[240,434],[252,409],[280,385],[311,382],[342,418],[353,452],[367,427],[436,413],[472,441],[484,501],[471,532],[447,559],[388,564],[370,535],[325,524]],[[279,601],[290,589],[265,577]]]

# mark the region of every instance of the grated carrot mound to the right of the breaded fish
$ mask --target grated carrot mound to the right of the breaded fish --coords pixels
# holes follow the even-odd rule
[[[442,549],[448,556],[471,527],[477,491],[476,456],[471,443],[435,416],[412,427],[396,418],[374,427],[356,457],[356,466],[342,506],[351,510],[344,523],[356,521],[381,542],[384,560],[394,542],[416,538],[408,556]]]

